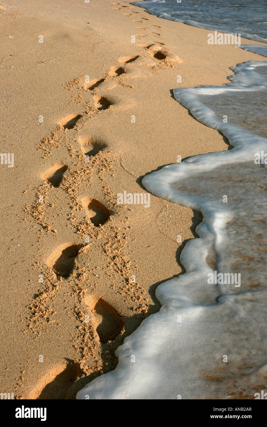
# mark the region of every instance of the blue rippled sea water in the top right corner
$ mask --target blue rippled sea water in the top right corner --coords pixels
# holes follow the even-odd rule
[[[159,18],[267,42],[266,0],[144,0],[132,4]]]

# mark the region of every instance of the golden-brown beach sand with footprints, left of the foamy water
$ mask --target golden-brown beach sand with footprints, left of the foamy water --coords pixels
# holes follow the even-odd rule
[[[230,66],[262,58],[129,2],[11,0],[0,21],[1,152],[14,153],[0,165],[0,392],[74,398],[159,310],[155,289],[183,272],[201,221],[117,193],[144,193],[142,177],[177,155],[228,146],[171,90],[222,85]]]

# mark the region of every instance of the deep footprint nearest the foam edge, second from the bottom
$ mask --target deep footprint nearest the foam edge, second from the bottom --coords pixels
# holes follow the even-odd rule
[[[92,313],[92,321],[100,342],[106,343],[115,339],[125,325],[116,310],[103,298],[96,301],[89,297],[86,304]]]

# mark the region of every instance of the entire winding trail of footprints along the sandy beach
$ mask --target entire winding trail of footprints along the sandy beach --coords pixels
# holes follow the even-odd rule
[[[113,9],[125,11],[125,9],[129,8],[119,3],[113,3]],[[150,24],[153,29],[157,31],[161,29],[160,26],[154,25],[148,18],[145,18],[142,13],[130,10],[129,13],[125,13],[124,15],[127,18],[136,18],[136,15],[140,15],[140,20],[135,20],[136,23],[143,24],[146,21],[145,23]],[[147,29],[148,27],[139,27],[139,30],[147,31]],[[156,38],[162,38],[159,32],[149,31],[148,33]],[[145,35],[137,35],[136,38],[142,39],[145,38]],[[170,55],[169,50],[164,47],[163,43],[151,43],[139,45],[139,47],[144,50],[144,52],[148,52],[156,61],[162,62],[168,58],[172,62],[181,62],[180,58]],[[110,102],[107,97],[97,94],[97,88],[101,87],[102,83],[108,79],[118,78],[125,74],[127,75],[127,67],[141,58],[141,55],[122,56],[118,59],[118,62],[122,64],[121,66],[113,66],[108,70],[105,77],[93,79],[83,84],[83,90],[92,91],[96,112],[107,110],[112,105],[112,102]],[[142,62],[139,64],[142,65]],[[80,80],[77,79],[77,81],[79,82]],[[68,131],[74,129],[82,117],[83,114],[69,115],[61,119],[58,124],[64,131]],[[78,137],[78,143],[80,144],[81,152],[84,156],[89,156],[90,158],[107,148],[107,144],[104,141],[92,137]],[[49,183],[51,187],[59,188],[67,169],[67,164],[58,161],[53,164],[41,178]],[[93,197],[83,197],[80,203],[94,227],[104,225],[108,221],[110,212],[97,199]],[[75,267],[75,259],[83,247],[84,244],[73,242],[60,245],[48,257],[47,265],[57,277],[67,280]],[[94,297],[90,295],[85,299],[85,304],[91,313],[91,321],[99,337],[99,342],[106,344],[116,339],[116,336],[122,332],[125,325],[124,320],[119,316],[116,310],[104,299],[104,297],[94,299]],[[74,395],[71,396],[70,393],[80,374],[81,369],[79,363],[73,362],[67,365],[56,366],[43,377],[40,383],[33,389],[30,398],[74,398]]]

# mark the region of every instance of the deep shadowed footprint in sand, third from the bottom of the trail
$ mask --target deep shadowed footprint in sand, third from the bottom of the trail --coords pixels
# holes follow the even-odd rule
[[[58,246],[47,260],[47,265],[52,268],[57,276],[69,277],[75,265],[75,257],[84,245],[78,243],[65,243]]]

